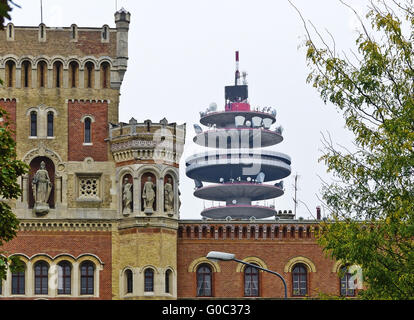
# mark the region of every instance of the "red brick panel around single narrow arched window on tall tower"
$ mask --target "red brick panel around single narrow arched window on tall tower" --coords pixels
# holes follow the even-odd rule
[[[84,143],[85,117],[91,121],[91,144]],[[92,157],[95,161],[108,160],[108,102],[82,101],[68,102],[68,160],[83,161]]]

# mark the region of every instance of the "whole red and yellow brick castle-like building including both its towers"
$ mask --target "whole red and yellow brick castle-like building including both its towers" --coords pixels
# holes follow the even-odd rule
[[[0,32],[0,106],[30,166],[11,203],[18,236],[1,248],[25,269],[9,272],[0,298],[283,296],[277,277],[212,262],[209,251],[277,271],[289,297],[352,294],[342,264],[315,242],[316,220],[179,218],[185,124],[118,121],[129,22],[121,9],[116,28],[9,23]]]

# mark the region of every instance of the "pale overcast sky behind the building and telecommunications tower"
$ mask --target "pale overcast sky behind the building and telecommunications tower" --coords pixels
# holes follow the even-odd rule
[[[40,0],[14,0],[15,25],[40,23]],[[358,26],[354,14],[336,0],[292,0],[305,19],[321,31],[329,30],[336,47],[355,48]],[[367,1],[347,0],[360,12]],[[342,115],[324,105],[306,83],[304,28],[287,0],[43,0],[47,26],[115,26],[114,12],[131,13],[129,61],[121,90],[120,121],[187,123],[187,142],[180,166],[182,219],[199,219],[203,200],[193,196],[194,183],[185,175],[184,159],[199,151],[193,142],[193,124],[211,102],[224,109],[224,86],[234,82],[234,52],[240,52],[240,70],[247,71],[251,106],[272,106],[284,141],[272,150],[292,158],[292,175],[285,178],[285,195],[276,209],[293,210],[293,177],[299,175],[298,199],[312,214],[321,205],[321,181],[329,179],[321,156],[321,132],[348,145],[351,134]],[[327,38],[329,36],[325,33]],[[269,204],[272,201],[268,202]],[[210,202],[205,202],[206,206]],[[310,218],[303,204],[298,216]]]

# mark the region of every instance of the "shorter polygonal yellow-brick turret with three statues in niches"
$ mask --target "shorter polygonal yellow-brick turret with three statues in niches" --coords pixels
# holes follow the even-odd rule
[[[177,298],[179,160],[185,124],[146,120],[112,125],[118,212],[114,234],[113,296]]]

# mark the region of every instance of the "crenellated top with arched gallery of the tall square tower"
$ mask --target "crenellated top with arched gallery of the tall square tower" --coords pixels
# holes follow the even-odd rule
[[[127,69],[130,14],[116,28],[37,27],[0,30],[0,77],[6,88],[119,89]]]

